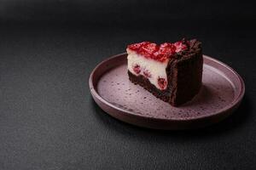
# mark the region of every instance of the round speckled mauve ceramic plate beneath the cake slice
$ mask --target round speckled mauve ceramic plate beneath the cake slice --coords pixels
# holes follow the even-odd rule
[[[118,54],[102,61],[89,80],[96,104],[123,122],[156,129],[205,127],[230,116],[245,93],[236,71],[204,55],[201,92],[188,103],[173,107],[129,81],[126,57]]]

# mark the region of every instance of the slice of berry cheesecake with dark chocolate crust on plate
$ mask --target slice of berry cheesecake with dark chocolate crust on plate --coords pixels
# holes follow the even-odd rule
[[[193,39],[157,45],[128,45],[128,75],[155,97],[177,106],[192,99],[201,88],[201,42]]]

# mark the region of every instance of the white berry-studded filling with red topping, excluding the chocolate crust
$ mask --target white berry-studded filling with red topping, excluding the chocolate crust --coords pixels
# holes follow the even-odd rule
[[[128,71],[136,76],[142,75],[156,88],[167,87],[166,66],[172,56],[187,48],[184,41],[157,45],[153,42],[139,42],[126,48]]]

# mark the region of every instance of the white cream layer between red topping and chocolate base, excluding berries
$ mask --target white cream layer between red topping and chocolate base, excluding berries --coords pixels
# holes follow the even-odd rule
[[[142,55],[137,54],[135,51],[132,51],[129,48],[127,48],[126,51],[128,54],[128,70],[136,76],[143,75],[143,71],[148,70],[151,74],[151,77],[147,77],[149,82],[154,84],[156,88],[161,89],[160,86],[158,85],[158,79],[165,78],[165,80],[167,80],[166,66],[168,64],[168,59],[166,59],[165,62],[160,62],[154,59],[146,59]],[[139,74],[133,71],[134,65],[140,65],[141,71]]]

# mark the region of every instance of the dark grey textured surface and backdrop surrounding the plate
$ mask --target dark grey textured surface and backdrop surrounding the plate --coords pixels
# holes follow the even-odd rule
[[[255,169],[255,5],[245,1],[0,1],[0,169]],[[90,71],[139,41],[197,37],[246,82],[241,107],[195,131],[119,122]]]

